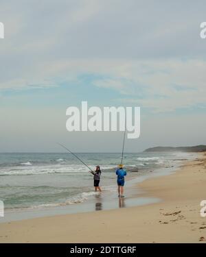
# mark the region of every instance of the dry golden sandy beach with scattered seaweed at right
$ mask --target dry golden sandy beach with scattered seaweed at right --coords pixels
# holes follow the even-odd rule
[[[0,224],[1,243],[204,243],[206,154],[138,184],[157,204]],[[205,241],[204,241],[205,238]]]

